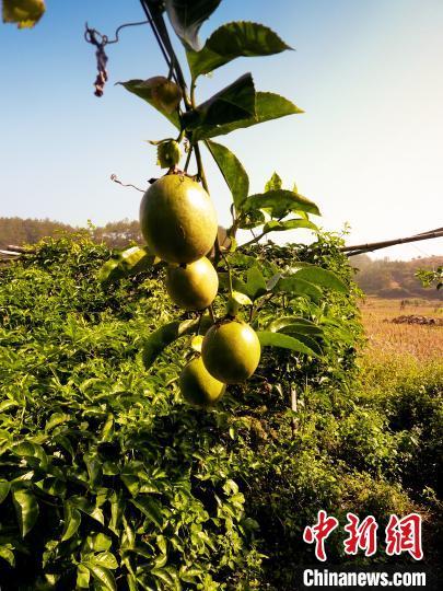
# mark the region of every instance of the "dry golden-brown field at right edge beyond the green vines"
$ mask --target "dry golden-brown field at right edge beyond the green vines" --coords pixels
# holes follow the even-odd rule
[[[421,362],[439,360],[443,363],[443,326],[390,322],[405,315],[442,321],[441,300],[406,300],[406,304],[401,305],[401,300],[368,298],[361,303],[360,310],[368,336],[365,352],[372,360],[383,361],[390,356],[401,356]]]

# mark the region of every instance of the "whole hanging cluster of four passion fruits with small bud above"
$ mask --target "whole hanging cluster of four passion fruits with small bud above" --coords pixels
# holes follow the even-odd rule
[[[177,142],[160,143],[158,157],[160,165],[170,166],[170,171],[143,195],[141,231],[149,251],[167,263],[166,291],[172,301],[183,310],[202,312],[212,305],[219,289],[217,270],[206,256],[217,240],[215,209],[205,188],[176,170]],[[201,355],[198,352],[183,370],[182,394],[196,406],[213,406],[226,384],[247,380],[259,360],[255,331],[230,308],[202,338]]]

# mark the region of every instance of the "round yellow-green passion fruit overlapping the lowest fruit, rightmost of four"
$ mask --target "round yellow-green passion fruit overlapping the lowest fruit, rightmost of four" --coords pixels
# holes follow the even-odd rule
[[[201,345],[206,369],[225,384],[244,382],[260,361],[260,341],[248,324],[240,320],[214,324]]]

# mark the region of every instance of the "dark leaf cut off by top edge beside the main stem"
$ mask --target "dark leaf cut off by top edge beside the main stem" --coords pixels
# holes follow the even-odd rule
[[[171,24],[187,49],[198,51],[198,32],[221,0],[165,0]]]

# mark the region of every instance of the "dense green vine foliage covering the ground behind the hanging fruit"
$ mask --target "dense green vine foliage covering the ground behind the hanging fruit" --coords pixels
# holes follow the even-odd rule
[[[325,235],[249,255],[260,268],[316,262],[347,282],[340,244]],[[269,349],[207,413],[178,393],[190,336],[143,370],[141,344],[174,315],[162,268],[102,288],[108,257],[66,237],[0,271],[2,587],[131,589],[133,572],[140,589],[284,590],[312,560],[301,532],[319,508],[382,523],[422,502],[438,511],[443,378],[374,368],[358,387],[358,292],[331,291],[314,309],[334,332],[322,358]],[[240,255],[236,265],[247,279]],[[288,316],[312,321],[303,297],[283,297]],[[277,303],[263,305],[272,316]],[[338,537],[328,553],[347,560]]]

